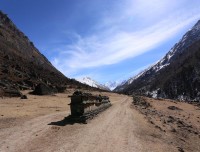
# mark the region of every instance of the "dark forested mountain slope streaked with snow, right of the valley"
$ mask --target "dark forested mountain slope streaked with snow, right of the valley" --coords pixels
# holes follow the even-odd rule
[[[200,21],[155,65],[115,89],[126,94],[200,100]]]

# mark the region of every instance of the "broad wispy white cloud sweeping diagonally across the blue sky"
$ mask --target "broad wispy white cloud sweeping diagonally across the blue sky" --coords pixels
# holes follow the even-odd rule
[[[200,18],[199,7],[191,12],[169,12],[180,3],[125,1],[122,7],[116,6],[119,12],[108,16],[105,13],[92,34],[81,36],[74,32],[73,43],[57,48],[58,55],[52,63],[64,74],[73,75],[80,69],[111,65],[141,55]]]

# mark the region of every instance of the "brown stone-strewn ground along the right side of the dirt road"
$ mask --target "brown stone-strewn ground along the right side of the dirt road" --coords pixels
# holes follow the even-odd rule
[[[200,107],[172,100],[133,97],[134,107],[178,151],[200,151]]]

